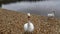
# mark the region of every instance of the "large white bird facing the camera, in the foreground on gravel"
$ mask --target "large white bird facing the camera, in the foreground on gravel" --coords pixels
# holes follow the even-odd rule
[[[30,21],[30,13],[28,13],[28,23],[24,24],[24,30],[25,30],[25,32],[32,32],[32,31],[34,31],[34,25]]]

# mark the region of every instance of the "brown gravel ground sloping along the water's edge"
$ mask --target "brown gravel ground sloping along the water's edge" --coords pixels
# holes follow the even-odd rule
[[[26,34],[23,26],[27,21],[26,13],[0,9],[0,34]],[[60,34],[59,19],[32,14],[31,22],[35,29],[28,34]]]

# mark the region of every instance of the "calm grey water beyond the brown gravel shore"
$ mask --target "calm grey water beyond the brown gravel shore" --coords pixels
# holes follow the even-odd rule
[[[44,16],[55,11],[56,17],[60,18],[60,1],[16,2],[5,5],[2,4],[2,8]]]

